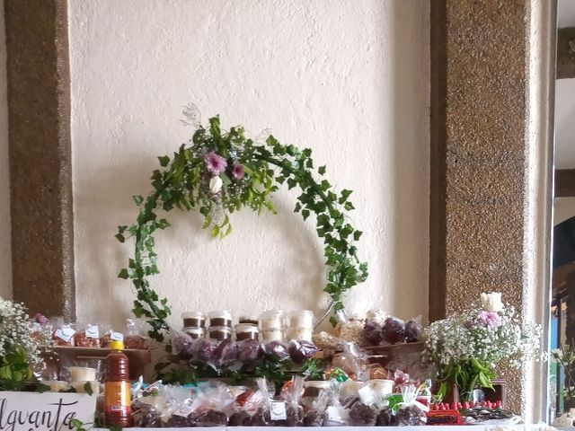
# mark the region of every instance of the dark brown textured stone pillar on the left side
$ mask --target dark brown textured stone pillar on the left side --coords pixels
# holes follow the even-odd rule
[[[4,0],[13,298],[75,317],[65,0]]]

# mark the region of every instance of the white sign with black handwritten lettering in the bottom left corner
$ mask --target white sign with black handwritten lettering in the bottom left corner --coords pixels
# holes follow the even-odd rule
[[[0,391],[0,431],[68,431],[72,419],[93,423],[96,396]]]

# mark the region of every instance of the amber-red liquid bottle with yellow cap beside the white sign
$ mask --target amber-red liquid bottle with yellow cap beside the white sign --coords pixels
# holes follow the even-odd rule
[[[124,343],[112,340],[106,356],[106,426],[131,426],[131,400],[128,356],[122,353]]]

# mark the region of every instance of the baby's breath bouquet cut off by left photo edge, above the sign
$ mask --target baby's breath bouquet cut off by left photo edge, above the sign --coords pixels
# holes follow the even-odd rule
[[[20,390],[44,365],[21,303],[0,298],[0,390]]]

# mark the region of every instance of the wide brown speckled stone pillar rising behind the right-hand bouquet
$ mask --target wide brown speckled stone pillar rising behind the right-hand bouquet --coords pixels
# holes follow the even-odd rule
[[[530,136],[540,119],[532,110],[540,96],[535,87],[549,84],[530,83],[536,61],[546,61],[530,57],[539,1],[431,1],[431,320],[464,308],[481,292],[501,292],[524,313],[531,301],[530,154],[549,145],[548,136]],[[543,157],[550,149],[544,147]],[[541,196],[549,198],[546,168]],[[550,202],[537,205],[547,206],[545,219]],[[525,409],[521,370],[503,369],[499,377],[509,383],[509,408]]]

